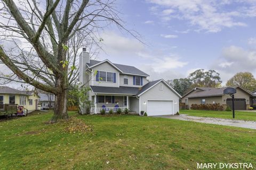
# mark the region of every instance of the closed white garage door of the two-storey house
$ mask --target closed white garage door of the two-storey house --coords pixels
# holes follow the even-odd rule
[[[148,100],[148,116],[173,115],[173,101]]]

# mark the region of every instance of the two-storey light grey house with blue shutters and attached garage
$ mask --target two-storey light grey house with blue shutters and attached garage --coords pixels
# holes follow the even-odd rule
[[[179,112],[181,96],[163,79],[149,82],[149,75],[134,66],[90,60],[85,48],[79,64],[79,82],[91,88],[91,113],[100,113],[102,109],[115,112],[117,108],[129,108],[138,114],[144,111],[148,116]]]

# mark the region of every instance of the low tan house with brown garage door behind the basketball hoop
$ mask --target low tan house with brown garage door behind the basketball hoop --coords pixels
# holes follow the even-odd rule
[[[235,96],[235,109],[248,109],[253,102],[254,94],[237,86]],[[223,94],[223,88],[196,87],[189,91],[181,98],[181,102],[185,103],[190,109],[192,104],[221,104],[226,109],[227,105],[232,106],[231,97]]]

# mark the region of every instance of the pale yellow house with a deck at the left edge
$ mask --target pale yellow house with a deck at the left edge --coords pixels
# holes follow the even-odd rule
[[[20,91],[6,86],[0,86],[0,109],[4,104],[20,105],[28,109],[28,113],[40,109],[39,96],[34,91]]]

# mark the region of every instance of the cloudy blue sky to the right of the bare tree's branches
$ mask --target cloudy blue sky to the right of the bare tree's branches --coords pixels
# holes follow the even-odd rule
[[[116,1],[125,31],[102,33],[98,59],[139,67],[150,80],[183,78],[195,69],[214,69],[223,84],[236,72],[256,76],[256,1]]]

